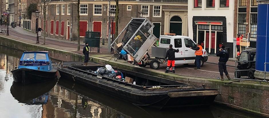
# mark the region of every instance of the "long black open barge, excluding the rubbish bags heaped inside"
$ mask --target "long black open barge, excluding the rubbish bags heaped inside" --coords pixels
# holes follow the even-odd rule
[[[209,105],[219,94],[217,89],[200,89],[191,84],[159,78],[113,67],[136,81],[136,84],[105,77],[86,70],[97,70],[103,66],[77,66],[83,62],[62,62],[58,64],[61,79],[85,84],[100,92],[138,106],[156,108]]]

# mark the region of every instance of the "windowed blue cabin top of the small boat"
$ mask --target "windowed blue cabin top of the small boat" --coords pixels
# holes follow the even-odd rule
[[[27,51],[23,52],[20,61],[50,61],[48,51]]]

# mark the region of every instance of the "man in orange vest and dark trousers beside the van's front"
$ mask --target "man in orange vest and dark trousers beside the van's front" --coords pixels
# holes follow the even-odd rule
[[[201,58],[202,58],[202,55],[203,55],[203,47],[201,46],[201,43],[197,43],[197,47],[196,48],[192,48],[190,47],[191,49],[195,50],[195,63],[196,63],[196,67],[195,69],[200,69],[201,67]]]

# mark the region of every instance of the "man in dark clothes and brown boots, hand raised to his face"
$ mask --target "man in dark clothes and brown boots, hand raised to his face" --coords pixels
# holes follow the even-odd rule
[[[225,75],[227,76],[228,80],[230,80],[230,76],[228,74],[228,71],[226,69],[226,62],[229,59],[229,52],[226,51],[225,46],[222,45],[219,49],[219,52],[217,52],[217,57],[219,57],[219,74],[221,77],[221,81],[224,80],[223,78],[223,72],[225,73]]]

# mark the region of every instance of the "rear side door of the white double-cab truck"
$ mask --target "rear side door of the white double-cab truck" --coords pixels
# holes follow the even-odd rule
[[[179,49],[179,52],[175,53],[175,64],[185,63],[184,46],[182,46],[181,38],[174,39],[174,49]]]

